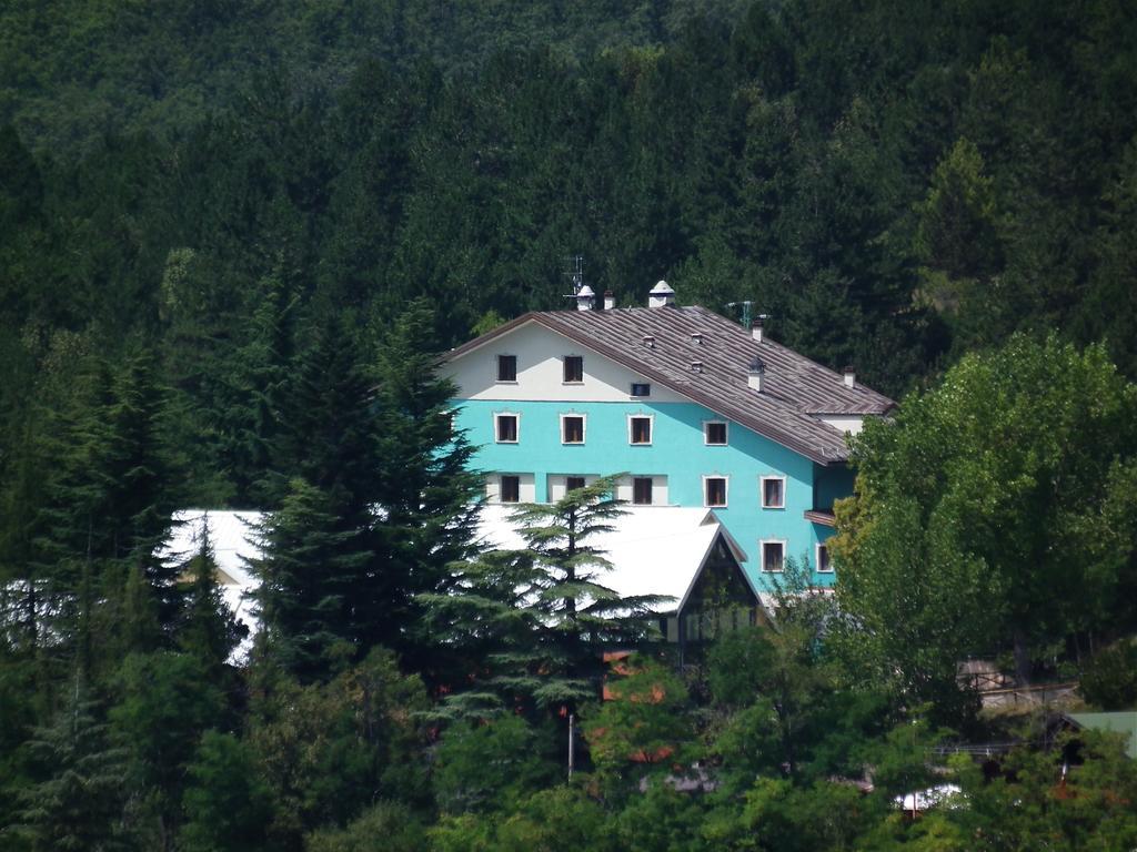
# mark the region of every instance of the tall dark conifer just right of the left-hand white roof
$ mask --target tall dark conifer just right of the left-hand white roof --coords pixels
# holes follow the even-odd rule
[[[329,318],[300,359],[274,446],[281,502],[259,529],[257,593],[266,640],[301,679],[329,676],[330,652],[366,651],[391,610],[376,559],[380,457],[372,384],[354,337]],[[340,653],[339,650],[335,651]]]

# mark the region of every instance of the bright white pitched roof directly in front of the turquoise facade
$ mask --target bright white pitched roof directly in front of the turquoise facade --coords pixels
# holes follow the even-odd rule
[[[501,503],[482,508],[479,537],[487,548],[524,550],[525,541],[513,520],[515,508]],[[599,533],[588,541],[612,563],[612,570],[598,576],[597,583],[621,596],[672,598],[677,611],[687,603],[720,534],[739,563],[746,560],[737,542],[708,509],[633,506],[614,518],[612,526],[612,532]],[[746,571],[741,575],[745,577]]]

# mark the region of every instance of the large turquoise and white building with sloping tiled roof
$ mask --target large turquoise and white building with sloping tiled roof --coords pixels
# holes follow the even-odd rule
[[[853,488],[845,427],[864,414],[822,412],[831,425],[790,411],[785,382],[770,377],[778,364],[782,378],[794,371],[789,350],[774,352],[777,344],[709,311],[595,314],[609,321],[601,327],[583,311],[526,315],[448,359],[456,426],[478,448],[487,499],[554,501],[580,479],[625,474],[617,495],[629,503],[712,510],[745,552],[755,588],[771,590],[790,559],[808,567],[814,586],[831,586],[832,503]],[[757,368],[755,348],[767,356]],[[813,367],[835,393],[850,390],[841,375]],[[872,394],[862,408],[880,409],[881,400]],[[782,416],[781,426],[763,419]]]

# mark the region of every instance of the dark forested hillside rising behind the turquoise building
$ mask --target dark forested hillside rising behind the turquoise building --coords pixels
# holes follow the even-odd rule
[[[1127,3],[524,6],[6,6],[5,433],[67,335],[217,418],[269,278],[445,346],[575,253],[896,395],[1016,328],[1137,370]]]

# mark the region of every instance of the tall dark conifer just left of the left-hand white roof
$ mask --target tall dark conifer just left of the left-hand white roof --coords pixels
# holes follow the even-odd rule
[[[118,636],[146,633],[152,646],[181,605],[177,568],[159,556],[176,502],[165,391],[147,352],[121,365],[97,359],[81,381],[85,393],[44,449],[57,459],[45,485],[43,534],[34,542],[45,608],[58,635],[77,635],[80,644],[103,625]],[[102,619],[97,610],[108,603],[122,611]],[[132,617],[131,629],[117,623],[123,613]],[[147,621],[153,629],[142,627]]]

